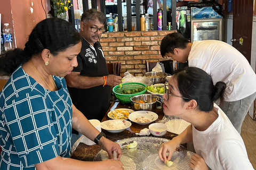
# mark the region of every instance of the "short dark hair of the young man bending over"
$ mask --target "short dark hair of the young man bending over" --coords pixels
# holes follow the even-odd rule
[[[189,40],[182,36],[181,33],[173,32],[166,35],[160,45],[160,52],[162,57],[165,56],[166,53],[174,54],[174,48],[185,49]]]

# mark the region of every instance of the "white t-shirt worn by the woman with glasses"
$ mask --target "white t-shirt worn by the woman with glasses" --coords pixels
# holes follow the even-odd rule
[[[212,170],[253,169],[241,135],[229,121],[227,115],[216,105],[218,118],[205,131],[193,126],[195,151],[204,158]]]

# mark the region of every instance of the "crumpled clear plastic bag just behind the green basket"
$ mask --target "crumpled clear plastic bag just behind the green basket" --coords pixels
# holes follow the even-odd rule
[[[150,86],[151,84],[153,84],[150,78],[142,77],[142,76],[135,77],[134,75],[126,71],[124,73],[123,83],[129,83],[129,82],[143,83],[143,84],[146,84],[147,86]]]

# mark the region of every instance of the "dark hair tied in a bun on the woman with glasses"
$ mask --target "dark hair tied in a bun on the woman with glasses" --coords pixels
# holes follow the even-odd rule
[[[223,102],[226,83],[219,81],[213,84],[212,78],[204,70],[197,67],[185,67],[174,73],[178,82],[179,92],[183,97],[197,101],[200,111],[210,112],[218,98]],[[185,102],[189,99],[183,99]]]

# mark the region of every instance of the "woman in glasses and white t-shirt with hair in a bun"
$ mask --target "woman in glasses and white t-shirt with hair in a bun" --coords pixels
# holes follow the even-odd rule
[[[168,87],[163,95],[164,114],[181,117],[191,125],[161,145],[161,160],[171,160],[180,144],[193,142],[196,154],[189,161],[192,169],[253,169],[241,135],[214,104],[218,98],[223,101],[224,82],[214,86],[211,76],[202,69],[185,67],[172,75]]]

